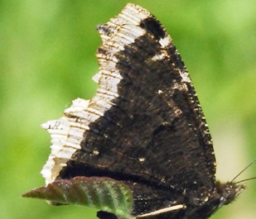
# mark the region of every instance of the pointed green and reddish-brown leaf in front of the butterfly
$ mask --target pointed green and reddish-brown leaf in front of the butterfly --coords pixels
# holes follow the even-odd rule
[[[75,177],[33,189],[22,197],[41,198],[60,204],[76,204],[98,208],[126,219],[131,216],[133,193],[127,185],[104,177]]]

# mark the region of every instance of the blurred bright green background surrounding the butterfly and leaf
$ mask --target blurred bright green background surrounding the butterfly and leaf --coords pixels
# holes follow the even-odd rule
[[[91,98],[100,45],[95,26],[127,2],[152,12],[181,53],[210,126],[217,178],[231,180],[256,157],[256,2],[49,1],[0,2],[0,218],[96,218],[87,207],[52,207],[22,193],[44,185],[40,171],[57,119],[75,98]],[[239,179],[256,176],[256,166]],[[256,217],[256,181],[212,218]]]

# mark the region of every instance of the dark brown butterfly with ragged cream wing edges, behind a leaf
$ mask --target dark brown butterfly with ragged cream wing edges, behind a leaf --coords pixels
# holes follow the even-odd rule
[[[43,125],[56,179],[109,178],[132,191],[133,218],[208,218],[244,188],[215,180],[210,131],[181,56],[159,21],[128,4],[98,26],[99,83],[89,101]],[[122,218],[100,211],[101,219]]]

